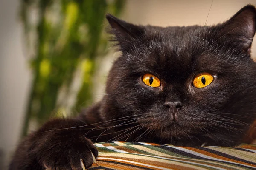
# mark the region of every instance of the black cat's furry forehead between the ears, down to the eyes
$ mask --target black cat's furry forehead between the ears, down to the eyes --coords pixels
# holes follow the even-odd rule
[[[134,71],[185,76],[223,68],[224,61],[207,49],[209,37],[199,26],[151,27],[148,32],[127,58]]]

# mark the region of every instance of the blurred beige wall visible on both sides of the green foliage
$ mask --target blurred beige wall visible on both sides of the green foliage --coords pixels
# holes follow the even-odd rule
[[[19,2],[0,0],[0,170],[6,169],[19,139],[31,79],[18,20]],[[211,3],[212,0],[128,0],[122,19],[158,26],[204,25]],[[214,0],[207,25],[227,20],[248,3],[255,5],[256,0]],[[252,51],[256,57],[256,43]],[[112,59],[108,57],[106,61]]]

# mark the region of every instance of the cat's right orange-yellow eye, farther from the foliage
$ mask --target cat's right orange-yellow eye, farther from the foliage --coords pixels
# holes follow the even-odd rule
[[[193,80],[193,85],[196,88],[204,88],[207,85],[211,84],[213,81],[213,76],[209,73],[201,73],[196,75],[195,79]]]

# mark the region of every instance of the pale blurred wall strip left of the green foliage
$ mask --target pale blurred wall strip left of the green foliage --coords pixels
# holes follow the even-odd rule
[[[0,169],[5,170],[19,139],[29,69],[24,53],[22,25],[18,18],[20,0],[0,0]]]

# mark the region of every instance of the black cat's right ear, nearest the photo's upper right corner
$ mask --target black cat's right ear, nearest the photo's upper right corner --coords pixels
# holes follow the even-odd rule
[[[235,43],[250,54],[255,30],[256,9],[252,5],[247,5],[241,8],[230,20],[222,24],[221,36],[231,36],[229,39],[233,41],[233,44]]]

